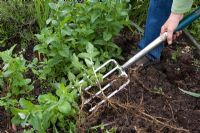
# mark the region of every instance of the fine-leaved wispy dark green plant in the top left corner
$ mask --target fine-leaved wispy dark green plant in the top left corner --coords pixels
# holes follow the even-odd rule
[[[29,1],[0,1],[0,46],[7,43],[26,45],[33,40],[34,25],[33,4]],[[33,28],[34,26],[34,28]]]

